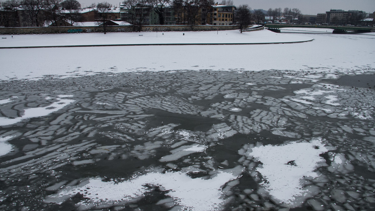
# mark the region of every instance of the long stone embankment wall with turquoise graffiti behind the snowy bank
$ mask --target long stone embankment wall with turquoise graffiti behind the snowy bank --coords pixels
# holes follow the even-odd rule
[[[238,25],[145,25],[142,31],[213,31],[234,30]],[[131,25],[107,26],[107,32],[131,32]],[[66,26],[66,27],[2,27],[0,34],[62,34],[103,32],[101,26]]]

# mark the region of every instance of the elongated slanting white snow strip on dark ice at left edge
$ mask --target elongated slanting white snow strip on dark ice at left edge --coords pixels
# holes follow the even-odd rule
[[[59,109],[65,107],[66,105],[69,105],[70,103],[74,102],[74,100],[62,99],[64,97],[73,97],[73,95],[59,95],[56,98],[56,100],[58,100],[58,101],[52,103],[51,105],[48,105],[48,106],[45,106],[45,107],[25,109],[24,115],[21,116],[21,117],[17,117],[17,118],[13,118],[13,119],[6,118],[6,117],[0,117],[0,126],[15,124],[15,123],[18,123],[18,122],[20,122],[24,119],[28,119],[28,118],[46,116],[48,114],[51,114],[52,112],[58,111]],[[50,98],[47,98],[47,99],[50,99]]]

